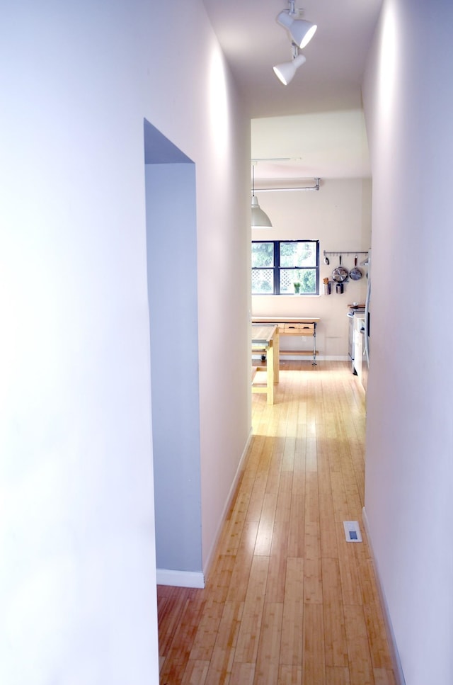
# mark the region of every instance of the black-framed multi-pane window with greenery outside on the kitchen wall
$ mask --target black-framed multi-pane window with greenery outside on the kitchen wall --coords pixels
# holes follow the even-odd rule
[[[252,295],[319,295],[319,240],[252,241]]]

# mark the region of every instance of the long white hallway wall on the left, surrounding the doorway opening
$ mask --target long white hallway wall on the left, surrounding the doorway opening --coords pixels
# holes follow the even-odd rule
[[[248,123],[199,0],[8,2],[0,51],[0,680],[149,685],[143,122],[197,166],[205,559],[250,423]]]

